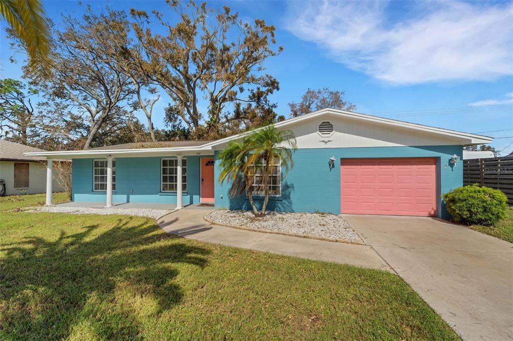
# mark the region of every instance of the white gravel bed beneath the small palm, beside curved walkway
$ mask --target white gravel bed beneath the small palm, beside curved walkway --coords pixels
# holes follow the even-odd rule
[[[210,212],[206,218],[221,225],[363,242],[342,217],[331,214],[268,212],[265,217],[257,218],[252,211],[219,209]]]

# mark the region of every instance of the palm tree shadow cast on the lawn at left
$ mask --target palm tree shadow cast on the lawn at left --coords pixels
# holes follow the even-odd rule
[[[136,308],[115,302],[116,292],[150,302],[143,308],[152,314],[179,304],[179,263],[202,268],[209,250],[132,220],[0,245],[0,338],[67,338],[86,323],[98,338],[133,339],[141,337]]]

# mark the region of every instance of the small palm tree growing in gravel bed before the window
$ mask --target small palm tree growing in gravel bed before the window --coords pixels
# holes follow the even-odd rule
[[[242,143],[231,141],[219,154],[219,182],[231,182],[230,196],[240,196],[246,191],[254,215],[263,216],[269,202],[269,182],[273,169],[281,164],[286,175],[293,166],[292,154],[295,150],[295,137],[291,131],[279,131],[274,125],[255,130]],[[260,212],[253,200],[255,175],[261,179],[257,190],[264,193]]]

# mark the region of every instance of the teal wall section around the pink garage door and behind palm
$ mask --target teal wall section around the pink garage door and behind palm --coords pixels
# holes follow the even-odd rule
[[[219,177],[219,160],[215,153],[216,167],[214,177]],[[435,157],[437,158],[437,194],[463,185],[463,167],[449,163],[456,154],[462,157],[461,145],[442,146],[398,146],[398,147],[360,147],[360,148],[311,148],[297,150],[293,156],[294,167],[282,179],[282,196],[270,198],[269,210],[294,212],[330,212],[340,214],[340,159],[342,158],[400,158]],[[329,158],[335,157],[334,168],[329,167]],[[230,198],[229,184],[215,183],[215,207],[228,209],[251,209],[249,201],[243,197]],[[441,200],[441,199],[440,199]],[[260,206],[262,199],[255,197]],[[440,216],[449,218],[442,200]]]

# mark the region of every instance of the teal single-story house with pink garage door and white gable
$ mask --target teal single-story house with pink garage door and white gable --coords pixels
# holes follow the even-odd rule
[[[298,145],[288,175],[279,167],[271,182],[275,195],[268,207],[281,211],[448,218],[441,195],[463,181],[462,163],[453,161],[462,157],[463,146],[492,140],[333,109],[275,126],[291,130]],[[217,208],[249,209],[244,196],[230,198],[229,184],[217,181],[216,159],[229,141],[246,134],[28,155],[73,160],[74,201],[177,207],[205,202]],[[112,191],[107,191],[110,185]]]

